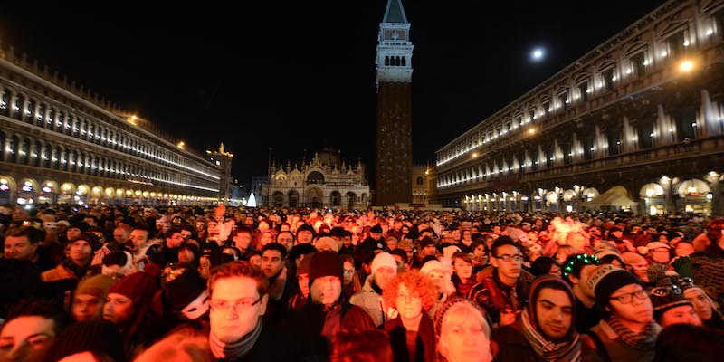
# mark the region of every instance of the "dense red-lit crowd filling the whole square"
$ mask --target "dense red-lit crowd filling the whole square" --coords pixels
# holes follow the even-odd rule
[[[3,361],[691,361],[724,219],[0,207]]]

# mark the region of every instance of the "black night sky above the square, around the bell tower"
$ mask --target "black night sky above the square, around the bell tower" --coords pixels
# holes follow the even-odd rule
[[[3,6],[4,48],[191,148],[223,141],[242,183],[266,175],[270,147],[286,163],[325,146],[348,162],[361,157],[374,182],[374,62],[386,0],[53,3]],[[403,1],[414,43],[415,164],[433,164],[435,150],[661,4]],[[545,61],[530,62],[536,46]]]

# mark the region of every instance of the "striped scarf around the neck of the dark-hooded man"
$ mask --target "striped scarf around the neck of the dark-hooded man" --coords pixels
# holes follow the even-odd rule
[[[578,333],[573,334],[573,338],[567,341],[554,343],[543,337],[530,323],[528,310],[523,310],[520,316],[523,324],[523,336],[533,348],[536,356],[544,361],[574,361],[581,360],[581,344],[579,343]],[[571,326],[571,328],[574,328]]]

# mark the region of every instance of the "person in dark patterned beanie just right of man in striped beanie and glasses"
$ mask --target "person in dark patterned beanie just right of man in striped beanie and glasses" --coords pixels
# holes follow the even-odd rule
[[[702,325],[691,301],[684,297],[678,281],[674,283],[671,278],[663,277],[648,292],[653,304],[653,319],[662,328],[680,323]]]

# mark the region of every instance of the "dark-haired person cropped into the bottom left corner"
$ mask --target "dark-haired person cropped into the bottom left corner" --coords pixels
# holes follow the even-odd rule
[[[23,300],[15,304],[0,329],[0,361],[42,362],[68,324],[68,316],[52,303]]]

